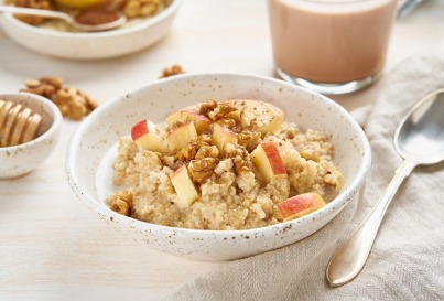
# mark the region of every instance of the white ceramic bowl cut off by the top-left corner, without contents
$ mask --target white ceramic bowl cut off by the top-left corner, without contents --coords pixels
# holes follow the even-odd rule
[[[1,0],[0,0],[1,1]],[[29,25],[0,13],[0,24],[17,43],[32,51],[71,60],[109,58],[145,49],[170,30],[182,0],[137,24],[104,32],[61,32]]]

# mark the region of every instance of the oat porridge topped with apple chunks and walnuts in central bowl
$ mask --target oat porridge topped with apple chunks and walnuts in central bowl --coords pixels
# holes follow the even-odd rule
[[[172,227],[231,230],[310,214],[342,189],[334,146],[259,100],[198,104],[141,120],[113,163],[112,211]]]

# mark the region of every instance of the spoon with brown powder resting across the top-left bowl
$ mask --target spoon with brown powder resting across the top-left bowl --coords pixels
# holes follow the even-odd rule
[[[0,6],[0,12],[62,19],[62,20],[66,21],[67,23],[69,23],[71,25],[73,25],[73,28],[75,28],[79,31],[86,31],[86,32],[111,30],[111,29],[118,28],[118,26],[122,25],[124,22],[127,22],[127,17],[124,17],[123,14],[121,14],[120,18],[115,21],[111,21],[108,23],[102,23],[102,24],[90,25],[90,24],[79,23],[69,14],[67,14],[65,12],[61,12],[61,11]]]

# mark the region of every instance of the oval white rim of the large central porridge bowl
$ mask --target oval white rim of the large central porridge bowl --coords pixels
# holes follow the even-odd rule
[[[279,84],[283,85],[285,87],[289,87],[291,89],[300,89],[302,92],[316,95],[320,97],[323,101],[326,101],[329,106],[334,107],[337,111],[340,111],[342,116],[344,116],[349,122],[350,126],[354,128],[354,132],[356,132],[359,141],[361,142],[360,144],[364,148],[364,154],[362,154],[362,160],[359,162],[358,166],[358,172],[355,175],[355,178],[351,180],[350,185],[346,190],[340,191],[340,195],[336,196],[333,201],[336,202],[329,202],[327,203],[324,207],[321,209],[317,209],[311,214],[307,214],[305,216],[302,216],[296,219],[291,219],[288,222],[282,222],[278,223],[274,225],[268,225],[264,227],[257,227],[257,228],[249,228],[249,229],[232,229],[232,230],[209,230],[209,229],[189,229],[189,228],[180,228],[180,227],[171,227],[171,226],[163,226],[163,225],[158,225],[158,224],[152,224],[148,222],[142,222],[132,217],[123,216],[121,214],[118,214],[113,211],[111,211],[108,206],[106,206],[105,203],[96,202],[95,197],[93,197],[89,193],[85,193],[85,191],[82,190],[82,187],[78,184],[77,176],[74,173],[75,170],[75,153],[78,147],[80,146],[80,138],[82,133],[85,129],[89,127],[89,123],[91,120],[95,118],[96,115],[100,114],[101,110],[107,109],[108,107],[112,107],[112,105],[127,99],[130,95],[133,94],[139,94],[140,92],[148,89],[148,88],[155,88],[156,86],[162,86],[165,85],[170,82],[176,82],[176,80],[184,80],[186,82],[189,78],[193,78],[194,80],[198,80],[198,78],[202,77],[237,77],[237,78],[249,78],[249,79],[255,79],[255,80],[263,80],[263,82],[269,82],[273,84]],[[306,89],[304,87],[295,86],[293,84],[273,78],[273,77],[268,77],[268,76],[260,76],[260,75],[255,75],[255,74],[248,74],[248,73],[189,73],[189,74],[182,74],[182,75],[175,75],[169,78],[162,78],[162,79],[156,79],[154,82],[151,82],[147,85],[143,85],[139,88],[132,89],[129,93],[119,95],[117,97],[111,98],[109,101],[105,103],[100,107],[98,107],[96,110],[94,110],[83,122],[82,125],[77,128],[75,131],[67,152],[66,152],[66,162],[65,162],[65,172],[67,176],[67,181],[69,185],[72,186],[74,193],[76,194],[77,198],[79,198],[82,202],[86,203],[86,205],[90,208],[94,208],[96,213],[101,215],[102,217],[109,217],[111,221],[117,222],[119,224],[128,224],[131,227],[141,227],[145,230],[156,230],[159,233],[167,233],[176,236],[199,236],[199,237],[231,237],[231,236],[249,236],[258,230],[261,232],[264,236],[274,234],[277,229],[285,230],[289,227],[302,227],[304,225],[307,225],[312,222],[313,214],[317,214],[317,218],[322,218],[324,216],[327,216],[329,214],[329,209],[332,207],[336,207],[337,213],[344,208],[348,202],[353,198],[353,196],[359,192],[359,190],[364,186],[366,175],[370,169],[371,165],[371,149],[370,149],[370,143],[364,133],[362,128],[358,125],[358,122],[351,117],[351,115],[339,104],[335,103],[334,100],[329,99],[328,97],[318,94],[316,92]]]

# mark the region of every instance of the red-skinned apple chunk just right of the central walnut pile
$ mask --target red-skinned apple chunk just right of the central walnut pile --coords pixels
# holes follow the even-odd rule
[[[260,143],[251,153],[251,162],[263,179],[269,182],[273,176],[286,174],[278,147],[273,142]]]

